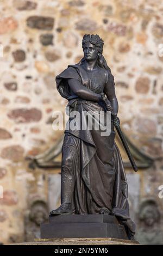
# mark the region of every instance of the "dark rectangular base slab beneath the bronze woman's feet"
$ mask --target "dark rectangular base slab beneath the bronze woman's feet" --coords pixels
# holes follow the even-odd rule
[[[115,216],[58,215],[41,224],[41,239],[114,238],[128,240],[126,229]]]

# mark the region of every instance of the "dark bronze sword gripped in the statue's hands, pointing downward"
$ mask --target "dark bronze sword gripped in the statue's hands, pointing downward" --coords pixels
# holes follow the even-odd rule
[[[115,118],[115,117],[116,117],[116,113],[114,113],[113,108],[111,107],[110,101],[107,99],[107,97],[105,96],[104,93],[102,93],[101,95],[102,95],[102,99],[103,99],[103,101],[104,101],[104,103],[105,103],[106,109],[107,109],[108,111],[111,111],[111,114],[112,114],[113,117]],[[124,135],[123,135],[123,133],[122,133],[122,131],[121,131],[121,127],[120,127],[120,125],[118,125],[118,126],[116,125],[115,127],[116,127],[116,130],[117,130],[118,135],[120,136],[120,139],[121,139],[121,141],[122,141],[123,147],[124,147],[124,149],[126,150],[126,153],[127,153],[128,158],[129,158],[129,160],[130,160],[131,166],[133,167],[133,169],[135,170],[135,172],[137,172],[138,168],[137,168],[137,166],[136,166],[136,164],[135,164],[135,161],[134,161],[134,159],[133,159],[133,156],[131,155],[130,149],[129,149],[128,144],[127,144],[127,142],[126,142],[126,139],[125,139],[125,137],[124,137]]]

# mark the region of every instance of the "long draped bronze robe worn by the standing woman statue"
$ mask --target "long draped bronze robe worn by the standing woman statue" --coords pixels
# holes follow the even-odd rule
[[[83,86],[96,93],[103,92],[93,84],[87,71],[81,65],[68,65],[68,68],[56,77],[57,89],[62,97],[68,99],[71,111],[86,111],[96,122],[96,113],[106,115],[104,103],[73,99],[67,80],[75,78]],[[104,84],[103,84],[104,86]],[[112,86],[112,85],[110,85]],[[94,114],[94,115],[93,115]],[[83,120],[82,120],[83,121]],[[70,125],[72,118],[69,118]],[[86,120],[84,120],[86,123]],[[71,125],[70,125],[71,126]],[[93,126],[94,128],[94,126]],[[114,125],[111,120],[111,133],[101,136],[102,130],[65,130],[62,145],[62,160],[71,156],[71,172],[75,180],[72,209],[74,214],[99,214],[101,209],[108,209],[118,221],[124,224],[129,239],[135,234],[135,224],[129,217],[128,185],[120,151],[115,143]]]

